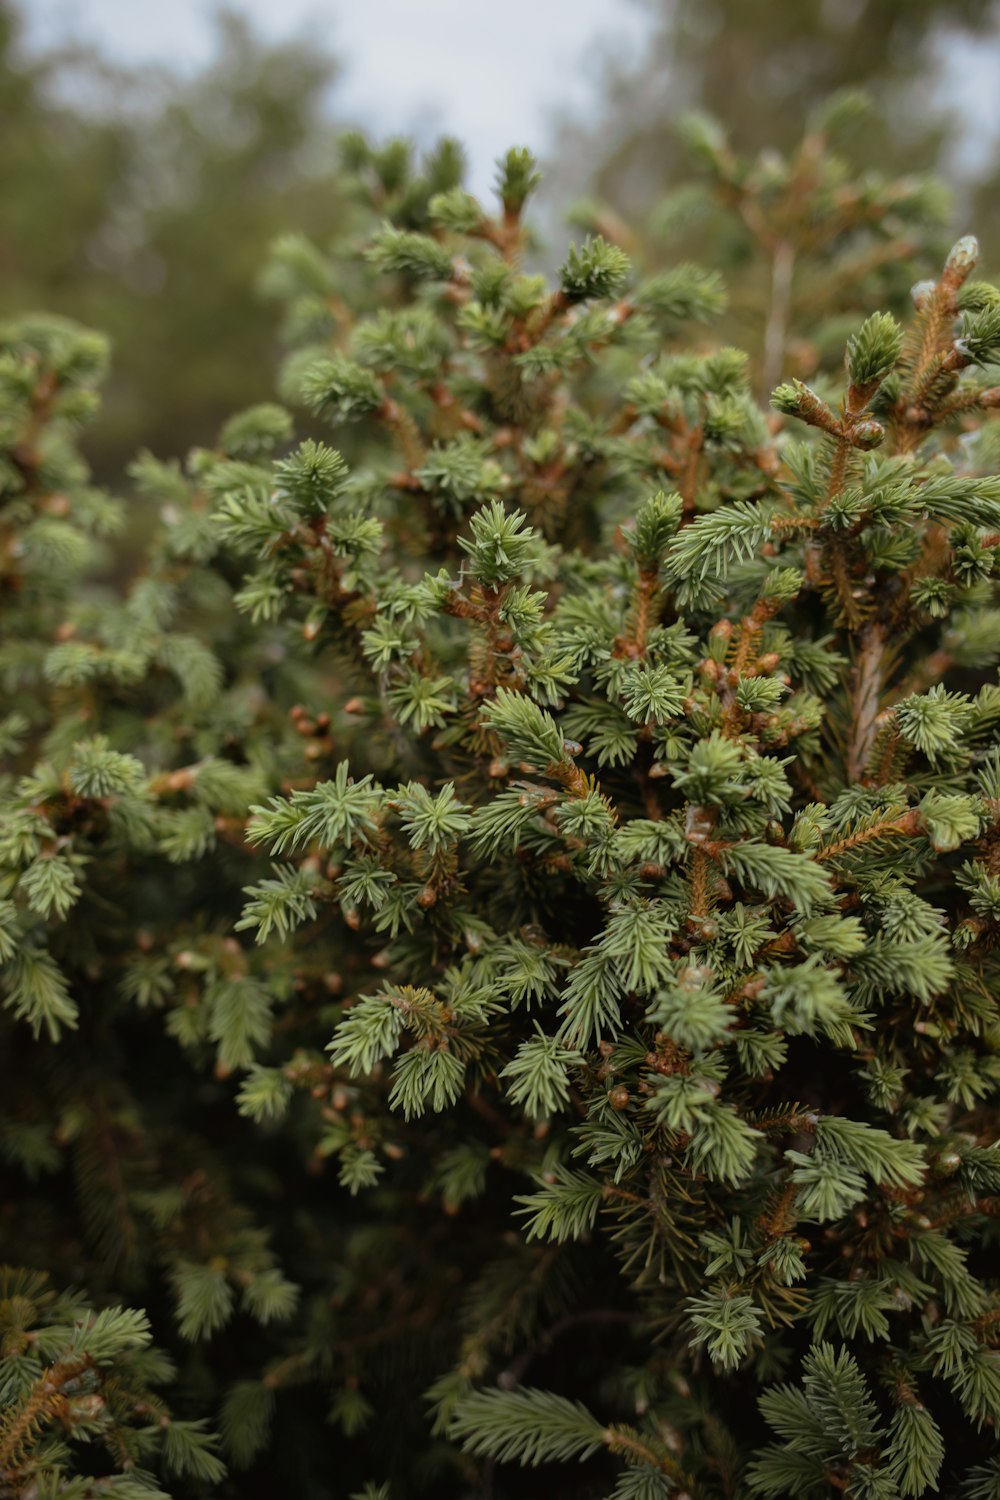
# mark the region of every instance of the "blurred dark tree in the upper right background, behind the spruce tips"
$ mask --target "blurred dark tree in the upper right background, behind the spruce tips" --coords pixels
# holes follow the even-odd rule
[[[742,153],[787,150],[823,99],[865,90],[891,129],[868,135],[882,170],[928,170],[961,132],[949,48],[996,39],[996,0],[633,0],[651,16],[637,62],[609,66],[586,124],[564,124],[564,162],[586,152],[597,195],[645,214],[684,160],[676,120],[715,116]],[[873,142],[877,140],[877,153]],[[565,176],[565,172],[564,172]]]

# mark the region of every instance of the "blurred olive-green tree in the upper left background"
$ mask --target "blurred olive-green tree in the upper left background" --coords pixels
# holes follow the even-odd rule
[[[274,236],[343,218],[336,75],[322,45],[265,44],[234,12],[193,75],[39,58],[0,0],[0,316],[48,308],[111,334],[102,477],[139,444],[208,441],[271,388],[256,280]]]

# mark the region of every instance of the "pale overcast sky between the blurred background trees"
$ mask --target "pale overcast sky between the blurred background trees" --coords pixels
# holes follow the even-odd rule
[[[121,62],[193,66],[211,54],[211,0],[28,0],[27,38],[97,42]],[[642,46],[634,0],[238,0],[265,36],[337,54],[342,117],[379,135],[447,130],[475,192],[508,146],[544,147],[561,108],[586,108],[609,54]]]

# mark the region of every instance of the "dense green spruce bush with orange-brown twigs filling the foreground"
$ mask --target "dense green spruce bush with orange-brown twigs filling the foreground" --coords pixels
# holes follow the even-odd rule
[[[0,1492],[990,1500],[1000,292],[762,408],[526,152],[348,162],[126,591],[3,328]]]

